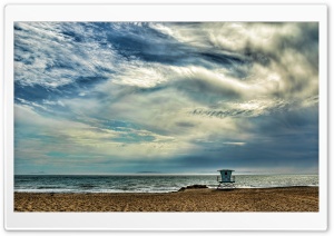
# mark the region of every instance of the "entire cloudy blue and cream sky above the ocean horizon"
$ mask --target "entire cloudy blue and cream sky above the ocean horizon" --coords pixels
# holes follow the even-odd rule
[[[16,22],[14,174],[318,173],[314,22]]]

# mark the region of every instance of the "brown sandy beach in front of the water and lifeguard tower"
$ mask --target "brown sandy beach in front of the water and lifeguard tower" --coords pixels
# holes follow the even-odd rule
[[[318,187],[165,194],[14,193],[14,212],[318,212]]]

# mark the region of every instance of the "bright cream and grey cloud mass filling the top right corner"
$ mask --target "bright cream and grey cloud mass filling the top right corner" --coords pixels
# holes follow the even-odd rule
[[[291,98],[317,92],[317,23],[213,22],[168,27],[170,36],[184,43],[243,56],[248,63],[240,65],[242,71],[249,82],[266,82],[274,72],[278,85],[272,95]]]

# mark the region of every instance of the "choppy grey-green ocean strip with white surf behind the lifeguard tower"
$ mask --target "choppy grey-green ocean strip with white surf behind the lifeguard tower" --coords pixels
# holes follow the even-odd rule
[[[16,175],[21,193],[169,193],[190,185],[216,188],[215,175]],[[236,188],[318,186],[317,175],[236,175]]]

